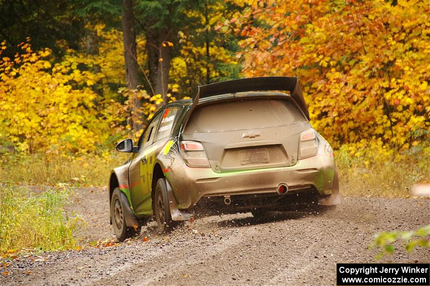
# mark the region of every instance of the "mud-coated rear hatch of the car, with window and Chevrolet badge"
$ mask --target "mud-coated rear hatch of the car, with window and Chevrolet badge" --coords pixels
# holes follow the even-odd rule
[[[284,97],[241,97],[199,104],[181,140],[202,143],[214,172],[293,166],[300,132],[311,128]]]

